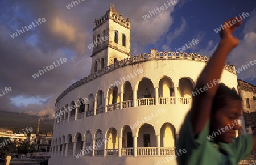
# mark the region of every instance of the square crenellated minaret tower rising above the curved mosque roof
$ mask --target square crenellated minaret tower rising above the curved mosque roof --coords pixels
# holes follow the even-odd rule
[[[112,4],[106,14],[94,22],[91,73],[130,57],[130,36],[130,18],[124,19]]]

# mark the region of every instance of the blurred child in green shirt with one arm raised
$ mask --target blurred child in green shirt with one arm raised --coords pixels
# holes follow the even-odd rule
[[[220,32],[221,41],[197,79],[195,89],[220,79],[226,57],[238,45],[239,41],[232,32],[241,21],[229,26],[227,22],[230,20],[224,23],[226,28]],[[237,165],[249,156],[256,150],[256,136],[235,138],[235,131],[240,129],[241,115],[240,96],[224,84],[216,83],[216,86],[196,95],[179,132],[176,150],[185,149],[187,153],[177,156],[178,164]],[[209,138],[210,134],[215,136]]]

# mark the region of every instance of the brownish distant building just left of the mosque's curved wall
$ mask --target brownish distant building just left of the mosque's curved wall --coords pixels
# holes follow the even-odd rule
[[[30,134],[28,136],[31,145],[35,145],[36,151],[51,152],[52,133]]]

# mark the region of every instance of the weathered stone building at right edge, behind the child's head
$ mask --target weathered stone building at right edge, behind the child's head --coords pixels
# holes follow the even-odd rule
[[[256,133],[256,86],[238,79],[238,93],[242,98],[241,134]]]

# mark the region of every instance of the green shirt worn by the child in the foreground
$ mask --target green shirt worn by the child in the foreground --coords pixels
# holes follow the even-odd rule
[[[214,142],[208,139],[209,120],[197,139],[193,136],[190,118],[191,111],[185,117],[181,126],[176,150],[185,149],[187,152],[177,156],[179,165],[237,165],[241,159],[251,154],[253,136],[240,135],[232,143]],[[180,154],[180,153],[179,153]]]

